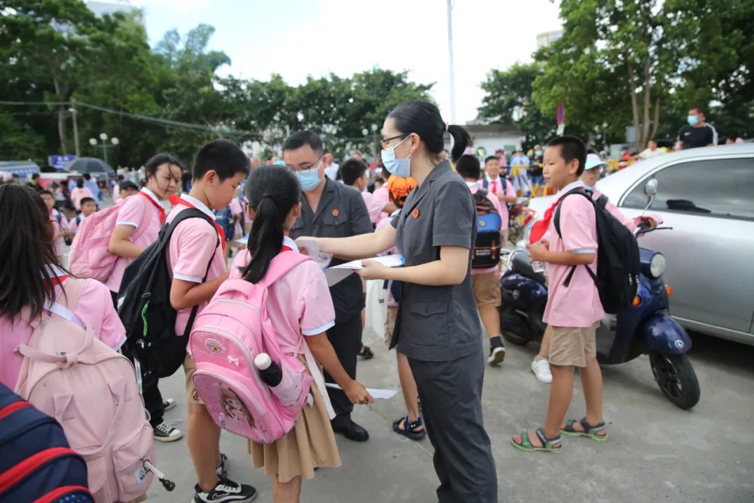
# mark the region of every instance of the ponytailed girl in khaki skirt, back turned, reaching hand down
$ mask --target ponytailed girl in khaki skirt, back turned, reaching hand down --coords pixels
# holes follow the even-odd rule
[[[248,249],[233,261],[231,278],[256,283],[264,278],[278,253],[299,253],[288,232],[301,215],[301,187],[296,176],[284,167],[260,167],[251,173],[246,191],[253,227]],[[284,351],[297,354],[314,377],[314,406],[304,407],[296,426],[285,437],[271,445],[250,442],[249,451],[255,468],[264,466],[265,473],[273,477],[274,501],[299,501],[302,478],[314,478],[314,468],[341,465],[330,425],[335,413],[323,392],[324,380],[317,362],[351,402],[373,399],[348,376],[327,339],[325,331],[335,325],[335,310],[317,262],[303,262],[276,281],[269,288],[267,312]]]

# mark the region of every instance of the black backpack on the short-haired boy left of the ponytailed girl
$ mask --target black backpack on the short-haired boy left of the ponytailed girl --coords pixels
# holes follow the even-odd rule
[[[186,344],[198,306],[192,309],[185,332],[178,336],[175,333],[177,312],[170,305],[172,281],[167,267],[167,251],[176,226],[191,218],[202,218],[214,226],[210,217],[200,210],[182,210],[169,225],[162,226],[157,241],[128,265],[118,291],[118,316],[126,328],[123,354],[133,362],[137,374],[144,378],[172,376],[185,359]],[[218,236],[216,247],[219,245]],[[207,264],[207,272],[213,258]]]

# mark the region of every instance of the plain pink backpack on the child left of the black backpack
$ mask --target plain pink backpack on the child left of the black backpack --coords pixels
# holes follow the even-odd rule
[[[130,196],[130,197],[136,197]],[[77,278],[92,278],[107,281],[118,256],[108,250],[110,236],[118,222],[118,211],[125,199],[97,213],[92,213],[78,226],[69,252],[69,269]],[[146,203],[147,201],[145,201]],[[150,208],[151,209],[151,208]],[[133,233],[136,238],[146,229],[146,223],[152,215],[144,210],[139,228]]]

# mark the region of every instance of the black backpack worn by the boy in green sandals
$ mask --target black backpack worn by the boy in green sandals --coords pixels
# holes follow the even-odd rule
[[[596,274],[589,265],[584,265],[594,280],[599,292],[599,301],[608,314],[618,314],[630,307],[639,287],[639,244],[636,237],[615,216],[605,209],[608,198],[601,195],[597,201],[592,193],[584,189],[573,189],[564,195],[560,201],[569,195],[576,194],[589,199],[594,207],[597,225],[597,244],[599,259]],[[560,204],[555,210],[555,230],[560,233]],[[568,287],[578,266],[574,265],[566,276],[564,287]]]

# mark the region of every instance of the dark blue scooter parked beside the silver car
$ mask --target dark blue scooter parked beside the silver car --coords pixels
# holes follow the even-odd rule
[[[651,204],[654,194],[648,195]],[[650,228],[642,223],[636,235],[665,229],[669,228]],[[597,360],[603,364],[624,363],[648,354],[654,379],[665,397],[682,409],[691,409],[699,401],[699,382],[685,354],[691,349],[691,339],[668,311],[672,289],[662,278],[665,258],[645,248],[639,248],[639,253],[641,275],[633,305],[602,320],[596,334]],[[513,250],[508,255],[500,287],[505,339],[518,345],[541,341],[547,327],[542,321],[547,284],[544,275],[532,268],[526,250]]]

